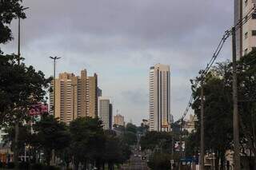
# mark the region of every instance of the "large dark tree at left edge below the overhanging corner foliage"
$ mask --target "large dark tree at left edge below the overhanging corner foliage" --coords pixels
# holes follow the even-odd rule
[[[50,80],[31,65],[18,65],[15,55],[0,56],[0,125],[15,125],[15,139],[18,125],[31,118],[28,114],[31,105],[44,100]],[[18,167],[18,142],[15,143],[14,162]]]

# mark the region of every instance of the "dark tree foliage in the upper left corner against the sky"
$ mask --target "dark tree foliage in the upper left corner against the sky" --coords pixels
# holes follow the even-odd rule
[[[26,18],[22,11],[22,0],[2,0],[0,1],[0,44],[13,39],[10,30],[10,22],[14,18]],[[1,49],[0,49],[0,53]]]

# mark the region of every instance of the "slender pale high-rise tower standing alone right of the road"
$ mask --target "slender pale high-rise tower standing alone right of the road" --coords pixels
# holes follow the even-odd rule
[[[150,67],[150,131],[170,131],[170,66]]]

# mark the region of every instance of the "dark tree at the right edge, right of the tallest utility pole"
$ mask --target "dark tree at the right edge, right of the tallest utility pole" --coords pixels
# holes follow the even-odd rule
[[[242,153],[248,158],[250,169],[256,168],[256,50],[238,61],[238,109]],[[246,154],[246,150],[250,154]],[[253,156],[254,155],[254,156]]]

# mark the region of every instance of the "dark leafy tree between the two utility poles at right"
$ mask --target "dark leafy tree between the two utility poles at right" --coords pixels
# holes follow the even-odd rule
[[[217,159],[221,160],[221,168],[224,168],[226,150],[231,148],[232,142],[232,94],[231,94],[231,72],[230,63],[219,63],[210,73],[206,75],[204,81],[205,98],[205,148],[209,152],[215,152]],[[198,78],[199,81],[199,78]],[[201,120],[201,88],[192,85],[194,103],[192,109]],[[200,134],[199,125],[196,131]],[[198,139],[198,138],[197,138]],[[218,165],[218,161],[216,161]],[[218,166],[216,166],[218,167]]]

